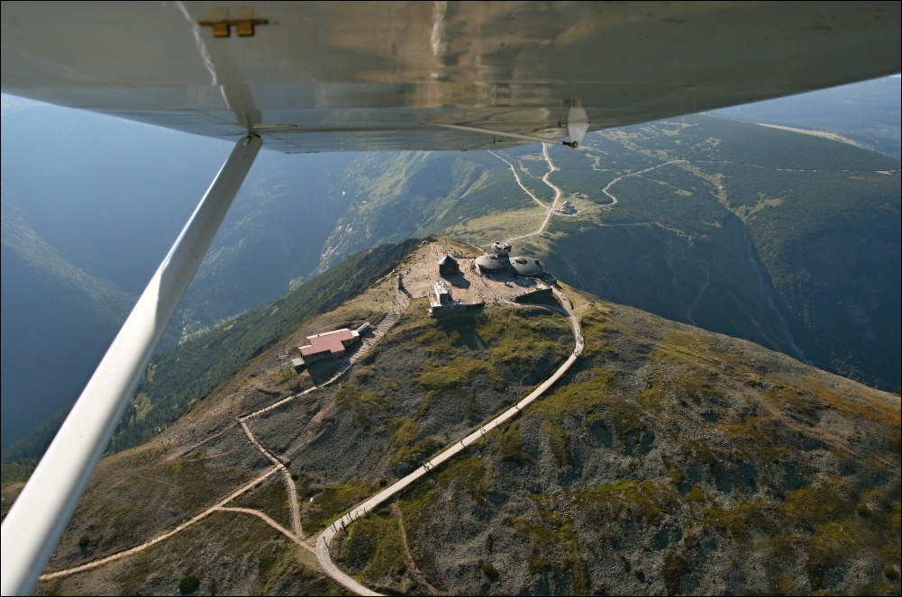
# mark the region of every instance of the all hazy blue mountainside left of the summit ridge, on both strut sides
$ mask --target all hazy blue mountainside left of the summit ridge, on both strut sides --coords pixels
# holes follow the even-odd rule
[[[230,147],[10,96],[0,115],[6,447],[78,397]],[[313,271],[353,159],[262,152],[162,347]]]

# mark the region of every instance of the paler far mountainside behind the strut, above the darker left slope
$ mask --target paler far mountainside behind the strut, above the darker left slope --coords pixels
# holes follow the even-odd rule
[[[139,294],[230,145],[9,96],[3,106],[7,199],[74,265]],[[330,185],[353,159],[262,152],[182,302],[176,331],[275,299],[313,271],[345,210]]]

